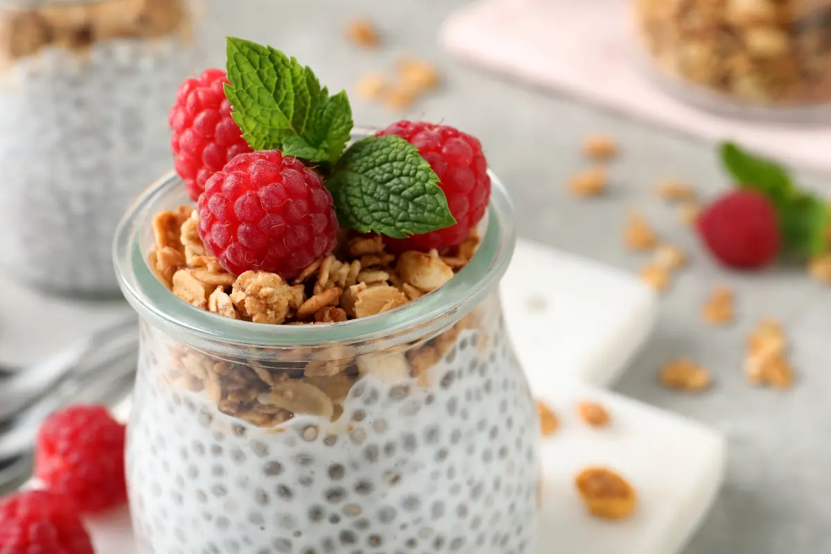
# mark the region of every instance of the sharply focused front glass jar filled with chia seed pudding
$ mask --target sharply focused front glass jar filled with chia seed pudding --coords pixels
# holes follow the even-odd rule
[[[186,201],[170,176],[116,231],[143,320],[127,439],[140,552],[534,552],[538,420],[499,302],[515,241],[499,181],[450,282],[325,325],[171,294],[145,262],[150,220]]]

